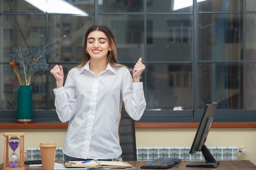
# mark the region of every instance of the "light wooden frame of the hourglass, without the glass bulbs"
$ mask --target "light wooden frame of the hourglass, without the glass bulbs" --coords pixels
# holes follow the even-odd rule
[[[24,136],[25,133],[3,133],[4,136],[4,165],[3,170],[25,170],[24,167]],[[19,167],[9,168],[9,136],[20,136],[20,163]]]

